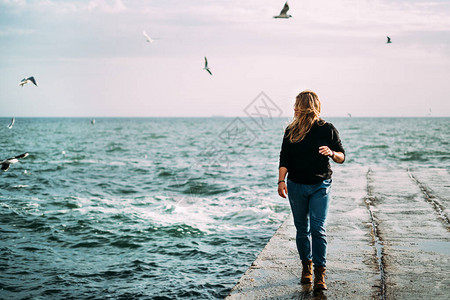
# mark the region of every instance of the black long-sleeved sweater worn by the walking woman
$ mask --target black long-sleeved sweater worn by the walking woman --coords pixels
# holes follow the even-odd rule
[[[311,127],[305,138],[298,143],[291,143],[286,129],[280,151],[280,167],[288,170],[288,179],[296,183],[314,184],[330,179],[331,166],[329,157],[319,153],[320,146],[328,146],[331,150],[342,152],[339,132],[331,123]]]

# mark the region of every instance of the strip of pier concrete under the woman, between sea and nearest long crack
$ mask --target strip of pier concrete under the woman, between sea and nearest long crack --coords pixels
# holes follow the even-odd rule
[[[289,216],[227,299],[370,299],[379,288],[372,247],[371,224],[365,202],[367,168],[335,173],[327,236],[329,291],[313,295],[300,284],[301,264],[295,227]]]

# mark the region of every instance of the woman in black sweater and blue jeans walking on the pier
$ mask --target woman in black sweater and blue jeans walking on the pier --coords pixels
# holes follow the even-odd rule
[[[338,131],[319,116],[317,94],[301,92],[295,101],[294,120],[284,133],[278,177],[278,194],[289,196],[297,229],[297,250],[303,266],[301,283],[312,282],[314,263],[314,291],[327,289],[325,220],[332,182],[329,159],[340,164],[345,160]]]

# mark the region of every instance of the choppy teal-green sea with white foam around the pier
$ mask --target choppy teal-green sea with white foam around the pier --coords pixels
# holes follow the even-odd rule
[[[450,118],[325,118],[343,165],[444,168]],[[0,118],[1,299],[223,299],[289,216],[288,118]]]

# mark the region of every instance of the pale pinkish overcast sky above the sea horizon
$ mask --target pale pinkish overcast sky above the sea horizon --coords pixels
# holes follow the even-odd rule
[[[0,0],[0,116],[245,116],[262,91],[291,116],[304,89],[324,116],[450,116],[450,1],[283,5]]]

